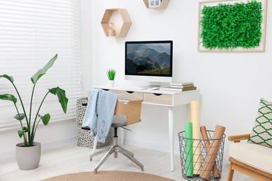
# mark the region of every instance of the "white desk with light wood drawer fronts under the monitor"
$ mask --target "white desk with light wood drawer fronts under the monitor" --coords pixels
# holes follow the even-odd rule
[[[174,92],[165,88],[152,91],[133,87],[95,86],[118,94],[119,100],[143,100],[143,104],[153,104],[168,107],[168,129],[170,148],[170,167],[174,171],[174,111],[173,107],[190,104],[192,100],[199,100],[199,91]]]

